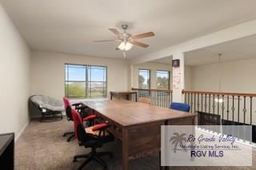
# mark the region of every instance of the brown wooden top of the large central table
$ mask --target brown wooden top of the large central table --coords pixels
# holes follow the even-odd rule
[[[194,117],[192,113],[125,100],[84,101],[83,103],[122,126]]]

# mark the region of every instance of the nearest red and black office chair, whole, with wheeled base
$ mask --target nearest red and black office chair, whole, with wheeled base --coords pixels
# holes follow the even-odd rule
[[[106,128],[109,127],[108,124],[103,123],[99,125],[94,125],[93,131],[99,131],[98,135],[86,132],[87,128],[82,125],[82,117],[76,110],[72,110],[72,117],[74,120],[75,137],[78,138],[79,146],[84,146],[85,148],[91,148],[90,153],[76,155],[74,156],[73,162],[76,162],[78,158],[86,158],[86,160],[80,165],[79,170],[86,166],[91,160],[95,160],[98,164],[101,164],[104,169],[106,169],[106,162],[102,160],[101,156],[113,157],[112,152],[96,152],[97,148],[102,148],[103,144],[113,141],[114,136],[111,134],[106,134]],[[102,133],[103,132],[103,133]]]

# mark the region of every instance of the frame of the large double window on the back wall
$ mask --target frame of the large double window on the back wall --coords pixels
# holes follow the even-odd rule
[[[66,65],[81,65],[81,66],[85,66],[86,68],[86,79],[85,81],[66,81]],[[97,81],[97,82],[102,82],[103,83],[103,92],[105,91],[105,93],[103,93],[102,96],[91,96],[91,90],[89,90],[89,84],[91,82],[96,82],[96,81],[89,81],[89,67],[103,67],[105,68],[105,72],[106,72],[106,77],[105,77],[105,81]],[[106,98],[107,97],[107,81],[108,81],[108,77],[107,77],[107,73],[108,73],[108,67],[106,65],[82,65],[82,64],[72,64],[72,63],[64,63],[64,93],[65,93],[65,97],[69,97],[69,98]],[[69,74],[67,73],[67,76]],[[67,78],[68,79],[68,78]],[[66,93],[66,83],[68,82],[81,82],[81,83],[85,83],[86,88],[85,88],[85,96],[83,97],[70,97],[68,91]],[[105,87],[105,88],[104,88]]]

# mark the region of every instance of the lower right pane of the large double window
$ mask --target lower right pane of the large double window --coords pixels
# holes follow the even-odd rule
[[[90,97],[106,97],[106,82],[90,82],[88,91]]]

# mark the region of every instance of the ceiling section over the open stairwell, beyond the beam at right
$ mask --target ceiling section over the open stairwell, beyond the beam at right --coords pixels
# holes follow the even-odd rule
[[[185,54],[185,64],[194,66],[218,63],[218,53],[222,53],[221,61],[224,62],[256,58],[255,44],[256,35],[197,49]]]

